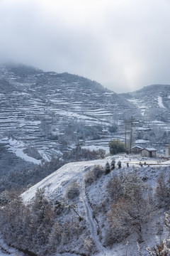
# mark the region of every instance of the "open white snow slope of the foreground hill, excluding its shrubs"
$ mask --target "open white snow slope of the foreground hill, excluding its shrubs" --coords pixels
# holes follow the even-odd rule
[[[107,184],[108,181],[113,178],[115,174],[130,174],[135,173],[137,176],[142,178],[143,181],[147,184],[149,188],[154,189],[157,184],[157,178],[159,174],[161,174],[164,171],[164,176],[169,175],[169,161],[166,162],[159,162],[155,160],[150,159],[141,159],[140,156],[127,156],[127,155],[120,155],[115,156],[116,163],[118,161],[122,162],[122,168],[118,169],[118,166],[116,164],[116,168],[111,171],[108,175],[103,175],[101,178],[96,180],[91,186],[86,186],[86,178],[87,174],[89,174],[89,169],[91,167],[96,165],[105,166],[106,162],[111,163],[111,157],[109,156],[106,159],[101,160],[95,160],[95,161],[81,161],[81,162],[74,162],[65,164],[62,166],[62,168],[55,171],[50,176],[47,176],[47,178],[44,178],[42,181],[37,183],[32,188],[28,189],[25,193],[22,194],[23,201],[25,203],[31,203],[33,201],[33,198],[35,196],[35,193],[38,188],[45,189],[45,196],[50,201],[64,201],[64,203],[76,203],[77,206],[77,212],[79,215],[81,215],[82,218],[86,220],[86,225],[89,226],[89,230],[91,233],[91,237],[94,240],[94,243],[96,245],[97,251],[100,252],[98,256],[108,255],[108,256],[123,256],[125,255],[126,251],[128,250],[128,255],[138,255],[138,245],[137,245],[137,238],[135,238],[135,235],[131,235],[127,239],[125,239],[123,242],[116,243],[113,245],[112,249],[103,247],[103,238],[102,235],[106,233],[106,227],[103,221],[102,217],[102,209],[101,205],[104,200],[107,200],[106,198],[106,190],[107,190]],[[139,163],[142,161],[146,161],[146,166],[140,166]],[[129,163],[129,167],[127,168],[127,162]],[[89,177],[91,178],[91,177]],[[70,187],[71,184],[77,183],[79,186],[79,199],[69,200],[67,201],[65,198],[66,191]],[[93,206],[93,207],[92,207]],[[98,214],[94,212],[94,206],[98,208]],[[157,218],[160,217],[161,214],[157,215],[154,220],[152,220],[151,225],[156,225]],[[67,218],[71,218],[70,215],[64,215],[60,216],[61,220],[64,218],[66,220]],[[107,218],[107,216],[106,216]],[[156,230],[156,228],[155,228]],[[154,228],[151,228],[150,230],[147,230],[147,233],[143,235],[144,242],[140,244],[142,255],[147,255],[145,251],[146,246],[152,246],[155,245],[155,242],[159,242],[159,235],[157,235],[154,230]],[[166,231],[164,231],[166,233]],[[79,245],[77,245],[76,241],[74,244],[69,245],[72,251],[72,247],[74,247],[74,251],[77,251],[79,248]],[[64,248],[63,248],[64,250]],[[81,252],[79,252],[81,255]],[[77,252],[77,255],[79,255]],[[60,255],[60,253],[57,253],[57,255]],[[69,253],[66,253],[64,255],[71,255]]]

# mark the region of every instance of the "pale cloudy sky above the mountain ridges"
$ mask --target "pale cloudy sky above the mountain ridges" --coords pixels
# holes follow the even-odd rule
[[[96,80],[170,85],[169,0],[0,0],[0,61]]]

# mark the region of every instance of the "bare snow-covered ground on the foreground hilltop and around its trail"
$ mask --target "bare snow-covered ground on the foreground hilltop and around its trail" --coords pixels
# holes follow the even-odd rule
[[[108,156],[106,159],[100,159],[100,160],[94,160],[94,161],[81,161],[81,162],[73,162],[69,164],[65,164],[60,169],[55,171],[50,176],[47,176],[47,178],[44,178],[42,181],[37,183],[35,186],[31,187],[28,191],[23,193],[23,201],[25,203],[30,203],[33,200],[33,197],[35,196],[35,193],[38,188],[44,188],[45,189],[45,196],[48,198],[58,198],[59,196],[64,195],[64,191],[69,186],[72,181],[77,181],[79,183],[79,186],[81,188],[80,193],[80,202],[81,206],[79,207],[79,211],[82,211],[82,207],[84,207],[84,214],[86,214],[86,221],[89,223],[89,227],[91,230],[91,236],[93,237],[96,247],[100,251],[100,253],[96,254],[96,256],[124,256],[126,255],[126,252],[128,256],[138,256],[139,252],[139,246],[142,247],[142,256],[148,255],[145,251],[145,247],[148,245],[150,247],[154,246],[156,242],[159,242],[159,235],[153,235],[154,228],[151,228],[151,230],[148,230],[148,232],[145,235],[145,242],[142,242],[141,245],[137,245],[135,235],[131,235],[127,239],[125,239],[123,242],[117,243],[113,245],[112,249],[108,249],[103,247],[100,240],[98,239],[97,235],[97,227],[98,224],[96,223],[96,220],[93,218],[92,212],[91,212],[91,206],[89,205],[89,198],[87,198],[85,185],[84,185],[84,174],[86,174],[86,171],[89,171],[89,168],[94,165],[101,165],[105,166],[106,162],[108,161],[111,163],[111,159],[113,156]],[[120,174],[122,171],[126,174],[133,172],[136,170],[137,175],[140,177],[147,177],[147,185],[152,188],[156,186],[157,184],[157,178],[159,174],[162,172],[162,166],[164,168],[167,168],[167,172],[164,174],[166,176],[169,175],[169,165],[170,161],[162,161],[160,163],[157,159],[142,159],[140,155],[116,155],[114,156],[114,159],[116,163],[118,161],[121,161],[122,168],[118,169],[118,166],[116,166],[116,169],[114,171],[107,175],[103,176],[101,184],[107,183],[109,179],[115,174]],[[146,166],[140,166],[140,161],[146,161]],[[127,166],[127,162],[129,163],[129,168],[125,168]],[[153,165],[152,165],[153,164]],[[149,166],[150,165],[150,166]],[[166,167],[166,165],[168,165]],[[131,168],[132,167],[132,168]],[[165,169],[164,169],[165,171]],[[93,195],[93,198],[91,198],[93,203],[97,203],[98,201],[102,201],[103,193],[104,193],[104,185],[99,186],[100,190],[96,193],[96,186],[91,186],[91,195]],[[98,188],[99,188],[98,187]],[[90,195],[89,195],[90,196]],[[160,213],[161,214],[161,213]],[[163,213],[162,213],[163,214]],[[157,215],[153,220],[153,227],[155,223],[157,222],[157,218],[159,218],[159,215]],[[164,231],[166,232],[166,231]],[[64,253],[62,256],[73,256],[74,254]],[[56,254],[55,256],[60,256],[60,254]]]

